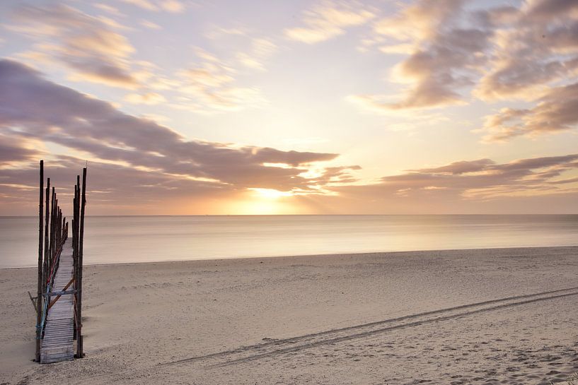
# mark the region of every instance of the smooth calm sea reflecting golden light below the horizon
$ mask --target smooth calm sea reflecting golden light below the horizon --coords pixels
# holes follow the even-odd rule
[[[0,268],[35,266],[37,218],[0,217]],[[578,215],[86,218],[86,263],[578,245]]]

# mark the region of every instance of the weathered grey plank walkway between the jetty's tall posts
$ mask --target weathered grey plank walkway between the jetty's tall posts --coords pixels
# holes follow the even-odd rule
[[[62,291],[74,277],[72,259],[72,239],[68,238],[62,247],[60,261],[54,275],[53,292]],[[72,290],[71,285],[67,290]],[[50,297],[53,301],[56,297]],[[50,303],[50,302],[49,302]],[[62,295],[48,309],[44,338],[40,347],[40,362],[47,364],[74,358],[74,295]]]

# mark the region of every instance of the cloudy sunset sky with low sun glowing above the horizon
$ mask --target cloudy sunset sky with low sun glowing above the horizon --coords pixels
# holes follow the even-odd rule
[[[89,215],[578,213],[574,0],[7,0],[0,56],[0,215],[40,159]]]

